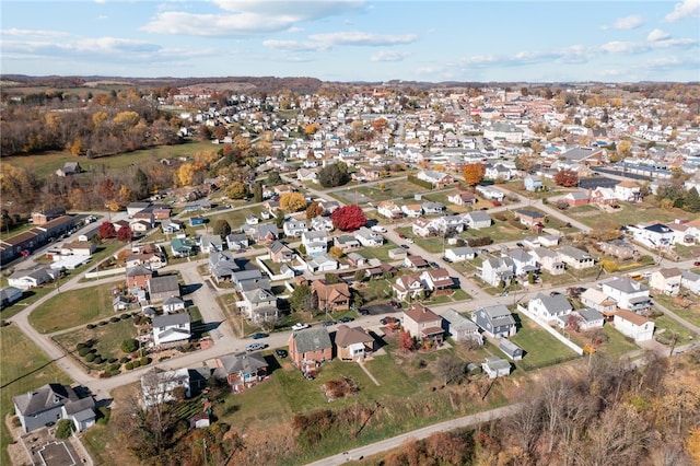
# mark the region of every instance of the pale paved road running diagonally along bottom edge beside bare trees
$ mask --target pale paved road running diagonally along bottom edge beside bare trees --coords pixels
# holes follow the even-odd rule
[[[397,448],[406,441],[425,439],[435,432],[447,432],[455,429],[478,426],[483,422],[488,422],[494,419],[500,419],[500,418],[513,415],[521,407],[522,405],[510,405],[510,406],[504,406],[502,408],[491,409],[490,411],[482,411],[476,415],[464,416],[462,418],[440,422],[433,426],[413,430],[400,435],[396,435],[390,439],[382,440],[380,442],[375,442],[369,445],[360,446],[358,448],[349,450],[345,453],[340,453],[335,456],[329,456],[327,458],[319,459],[315,463],[310,463],[308,466],[336,466],[352,459],[369,457],[371,455],[376,455],[377,453]]]

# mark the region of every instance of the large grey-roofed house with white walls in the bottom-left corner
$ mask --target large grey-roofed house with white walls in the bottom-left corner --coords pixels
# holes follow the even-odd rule
[[[92,397],[79,398],[69,385],[46,384],[13,396],[12,401],[25,432],[54,424],[60,419],[71,420],[78,432],[95,424],[95,400]]]

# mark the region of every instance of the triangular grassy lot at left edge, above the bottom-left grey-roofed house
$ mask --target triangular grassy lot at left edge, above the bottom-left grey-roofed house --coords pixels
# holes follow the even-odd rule
[[[0,328],[0,428],[2,454],[0,463],[10,464],[7,446],[10,443],[10,432],[4,419],[13,411],[12,397],[47,383],[71,383],[46,354],[36,347],[20,329],[13,326]]]

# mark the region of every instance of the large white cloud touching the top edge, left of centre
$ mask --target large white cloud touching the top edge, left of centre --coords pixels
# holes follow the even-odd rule
[[[298,23],[346,14],[360,1],[212,0],[222,13],[160,11],[141,30],[156,34],[192,36],[249,36],[296,27]]]

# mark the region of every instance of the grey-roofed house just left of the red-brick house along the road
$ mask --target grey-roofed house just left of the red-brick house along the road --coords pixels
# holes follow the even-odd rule
[[[217,358],[213,376],[225,378],[231,392],[245,392],[268,377],[269,364],[259,352],[238,352]]]

